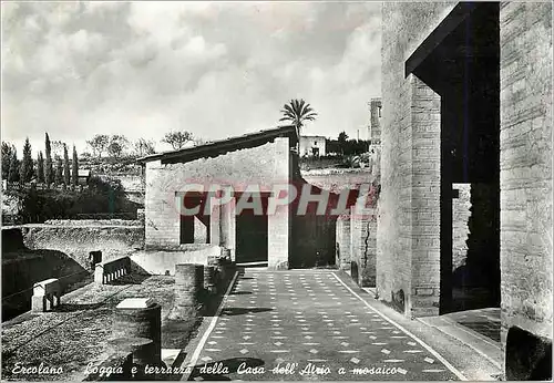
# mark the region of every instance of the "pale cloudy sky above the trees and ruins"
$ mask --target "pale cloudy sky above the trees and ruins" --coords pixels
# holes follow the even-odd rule
[[[380,95],[376,2],[2,2],[2,141],[85,149],[96,133],[204,139],[274,127],[365,137]]]

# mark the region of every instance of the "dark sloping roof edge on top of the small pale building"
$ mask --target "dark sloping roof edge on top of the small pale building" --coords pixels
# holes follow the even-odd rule
[[[264,144],[267,144],[268,142],[274,141],[277,137],[289,137],[291,138],[290,144],[296,144],[298,142],[296,126],[278,126],[271,130],[258,131],[240,136],[212,141],[198,146],[186,147],[178,151],[152,154],[138,158],[137,162],[147,163],[151,161],[162,161],[162,163],[186,163],[202,157],[216,157],[228,152],[261,146]]]

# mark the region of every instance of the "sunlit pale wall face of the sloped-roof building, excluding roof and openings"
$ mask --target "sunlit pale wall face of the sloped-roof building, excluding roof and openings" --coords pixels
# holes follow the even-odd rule
[[[163,165],[160,161],[146,164],[145,246],[172,248],[179,244],[179,215],[175,193],[186,184],[232,185],[244,190],[255,184],[261,192],[270,192],[275,184],[289,183],[290,151],[288,138],[276,138],[259,147],[227,153],[215,158],[199,158],[185,164]],[[269,217],[270,256],[288,259],[288,215]],[[214,221],[212,220],[212,224]],[[234,255],[235,225],[230,219],[228,246]],[[286,224],[286,225],[285,225]],[[220,228],[219,228],[220,229]],[[273,230],[277,231],[273,231]],[[283,232],[285,230],[285,232]],[[224,238],[216,230],[214,238]],[[273,238],[273,237],[276,238]],[[277,246],[271,250],[271,246]]]

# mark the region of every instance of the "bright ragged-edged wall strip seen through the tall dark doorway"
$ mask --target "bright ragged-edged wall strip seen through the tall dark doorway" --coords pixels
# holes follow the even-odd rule
[[[471,184],[452,184],[458,198],[452,198],[452,272],[465,265],[468,258],[468,226],[471,216]]]

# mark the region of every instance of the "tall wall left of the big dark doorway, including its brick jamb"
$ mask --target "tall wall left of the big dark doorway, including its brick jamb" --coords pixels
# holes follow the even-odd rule
[[[377,288],[386,301],[392,301],[393,294],[402,290],[407,314],[438,312],[433,304],[439,293],[439,217],[434,220],[434,215],[440,206],[435,162],[440,155],[440,124],[434,112],[418,110],[418,105],[425,104],[434,108],[438,97],[413,75],[404,76],[404,62],[454,6],[455,2],[382,6]],[[419,294],[416,302],[412,292]],[[412,312],[412,303],[421,309]]]

